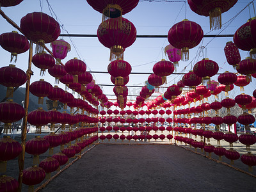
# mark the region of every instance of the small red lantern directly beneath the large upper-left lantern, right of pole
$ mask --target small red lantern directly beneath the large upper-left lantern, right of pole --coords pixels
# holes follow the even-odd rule
[[[46,52],[40,52],[33,56],[32,63],[35,67],[40,68],[40,76],[44,76],[45,69],[54,67],[55,60],[51,56],[51,54],[47,54]]]

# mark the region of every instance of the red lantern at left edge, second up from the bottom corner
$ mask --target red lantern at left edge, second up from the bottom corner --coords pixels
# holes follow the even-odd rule
[[[4,136],[0,139],[0,170],[6,172],[7,161],[19,156],[22,151],[20,143],[10,138],[10,136]]]

